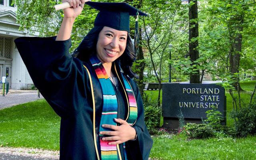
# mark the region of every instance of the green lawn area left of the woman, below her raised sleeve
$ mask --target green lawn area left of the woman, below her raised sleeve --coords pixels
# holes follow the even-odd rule
[[[0,110],[0,146],[59,149],[60,118],[45,100]]]

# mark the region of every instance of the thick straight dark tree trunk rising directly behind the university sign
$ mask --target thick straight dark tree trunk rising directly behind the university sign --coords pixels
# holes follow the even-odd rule
[[[192,6],[189,7],[189,56],[192,62],[191,65],[194,64],[194,61],[199,58],[199,52],[197,50],[198,47],[198,40],[191,40],[193,38],[198,37],[198,22],[192,21],[193,19],[198,18],[198,7],[197,7],[197,0],[188,0],[188,3],[194,2]],[[190,83],[200,83],[200,72],[196,70],[190,74]]]

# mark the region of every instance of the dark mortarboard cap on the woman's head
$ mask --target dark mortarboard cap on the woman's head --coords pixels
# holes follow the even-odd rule
[[[107,26],[116,30],[130,32],[130,16],[147,16],[144,12],[127,3],[86,2],[92,8],[99,10],[94,26]]]

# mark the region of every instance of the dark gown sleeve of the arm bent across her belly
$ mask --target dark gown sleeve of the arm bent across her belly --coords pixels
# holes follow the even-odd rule
[[[138,89],[136,82],[134,82],[134,84],[136,87],[134,94],[138,107],[138,118],[133,128],[136,130],[137,139],[128,141],[128,147],[130,150],[130,155],[132,156],[132,160],[148,160],[150,150],[153,145],[153,140],[150,137],[144,121],[144,106],[142,97],[140,95],[140,90]]]

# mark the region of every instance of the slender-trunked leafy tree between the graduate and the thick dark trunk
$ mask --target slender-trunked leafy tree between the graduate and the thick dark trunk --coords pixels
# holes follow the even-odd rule
[[[144,0],[143,10],[149,15],[143,17],[142,44],[147,48],[150,61],[154,69],[158,85],[158,105],[160,106],[160,90],[162,82],[162,62],[169,50],[168,45],[184,34],[183,21],[180,16],[184,12],[184,5],[181,1],[160,0],[155,3],[151,0]],[[178,24],[178,25],[177,25]],[[158,67],[154,58],[158,58]]]

